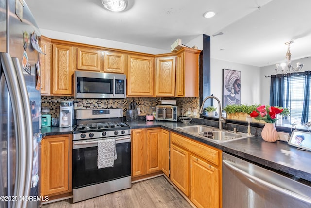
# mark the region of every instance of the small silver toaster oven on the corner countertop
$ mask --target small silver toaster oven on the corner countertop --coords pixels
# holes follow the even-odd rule
[[[155,106],[155,119],[165,121],[177,121],[181,115],[181,109],[178,106]]]

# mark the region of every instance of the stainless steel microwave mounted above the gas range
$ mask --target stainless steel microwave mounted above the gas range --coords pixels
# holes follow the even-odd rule
[[[104,72],[74,72],[75,98],[126,98],[126,76]]]

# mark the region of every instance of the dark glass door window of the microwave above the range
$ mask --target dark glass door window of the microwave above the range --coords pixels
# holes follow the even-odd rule
[[[113,94],[113,79],[77,77],[77,92]]]

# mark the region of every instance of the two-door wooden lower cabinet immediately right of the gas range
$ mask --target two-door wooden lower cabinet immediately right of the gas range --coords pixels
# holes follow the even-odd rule
[[[132,178],[161,172],[159,164],[160,128],[133,129]]]

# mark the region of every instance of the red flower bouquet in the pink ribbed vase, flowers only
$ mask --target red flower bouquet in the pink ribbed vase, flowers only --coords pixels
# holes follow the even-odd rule
[[[250,116],[255,118],[256,120],[263,120],[266,123],[275,123],[276,122],[276,114],[282,113],[284,109],[279,109],[276,107],[269,106],[259,106],[254,110]]]

